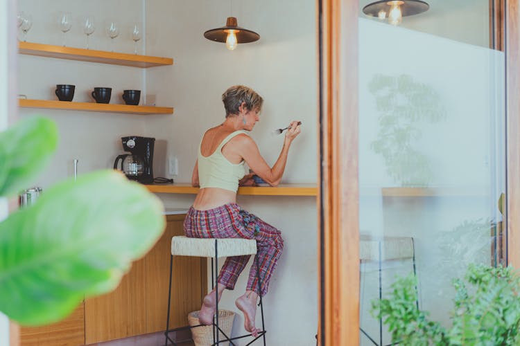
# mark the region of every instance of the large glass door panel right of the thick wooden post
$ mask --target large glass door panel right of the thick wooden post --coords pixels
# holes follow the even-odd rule
[[[361,8],[368,1],[361,3]],[[359,19],[361,345],[388,345],[371,302],[415,273],[420,309],[449,326],[451,280],[504,261],[504,55],[489,0],[428,1]]]

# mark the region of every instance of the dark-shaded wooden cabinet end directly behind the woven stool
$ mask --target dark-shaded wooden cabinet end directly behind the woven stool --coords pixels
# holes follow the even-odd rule
[[[146,255],[146,332],[164,331],[168,309],[171,237],[184,235],[185,215],[167,215],[164,234]],[[188,325],[188,313],[200,309],[207,290],[207,260],[173,257],[170,328]]]

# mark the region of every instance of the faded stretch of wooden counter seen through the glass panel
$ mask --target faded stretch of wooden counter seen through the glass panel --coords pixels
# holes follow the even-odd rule
[[[489,197],[483,188],[381,188],[383,197]]]

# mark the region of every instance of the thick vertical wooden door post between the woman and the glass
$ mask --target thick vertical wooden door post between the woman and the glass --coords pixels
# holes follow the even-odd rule
[[[359,345],[358,0],[318,0],[321,345]]]

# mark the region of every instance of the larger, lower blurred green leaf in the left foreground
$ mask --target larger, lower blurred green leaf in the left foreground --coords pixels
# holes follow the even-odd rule
[[[162,203],[114,171],[45,190],[0,223],[0,311],[22,325],[114,289],[164,230]]]

